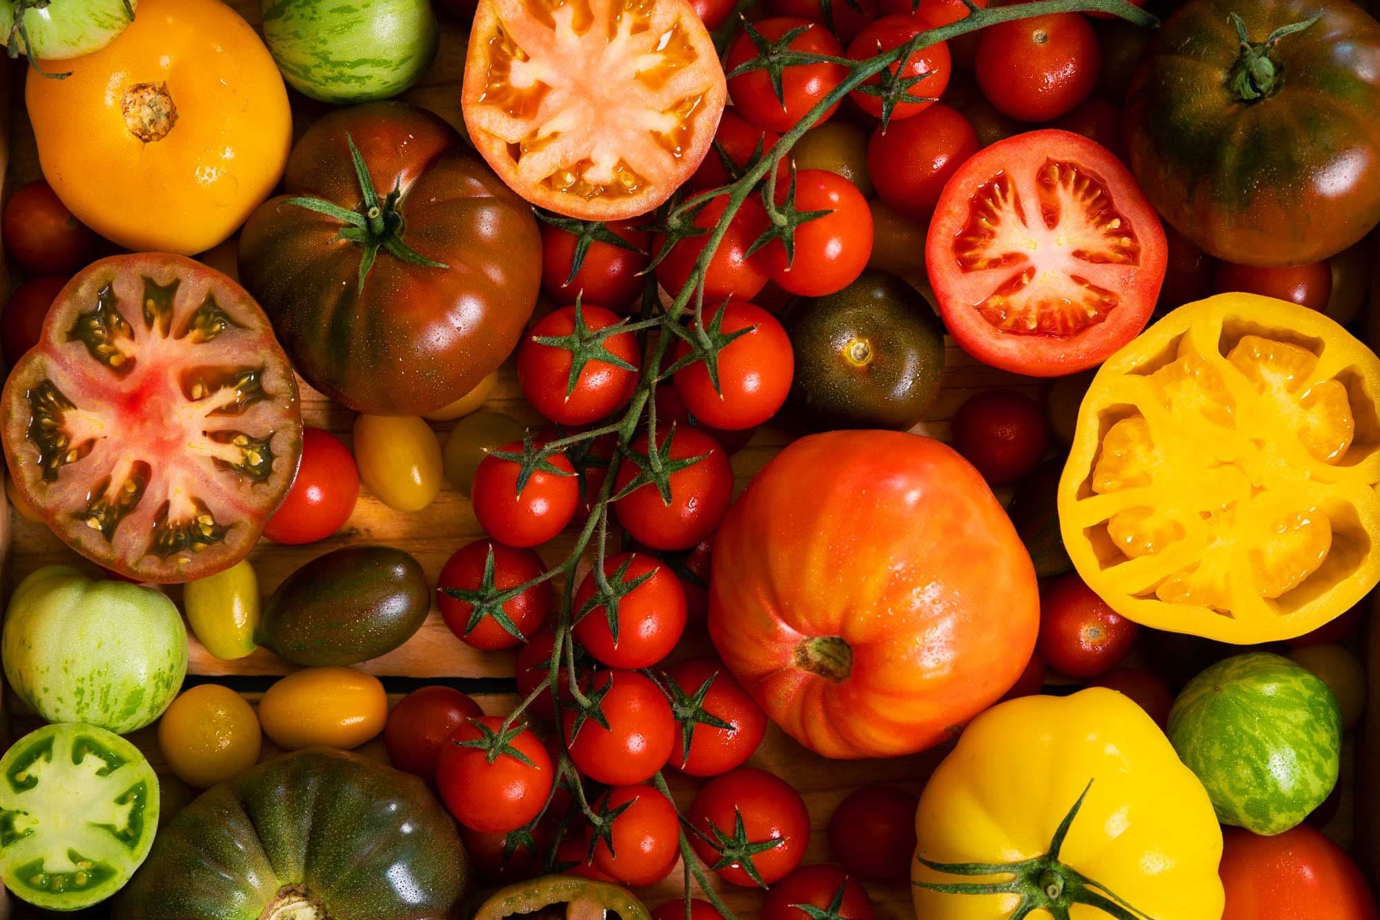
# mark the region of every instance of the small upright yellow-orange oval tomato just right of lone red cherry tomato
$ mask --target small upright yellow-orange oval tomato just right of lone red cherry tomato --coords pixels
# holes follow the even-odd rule
[[[421,511],[440,492],[440,441],[417,416],[355,420],[359,479],[396,511]]]

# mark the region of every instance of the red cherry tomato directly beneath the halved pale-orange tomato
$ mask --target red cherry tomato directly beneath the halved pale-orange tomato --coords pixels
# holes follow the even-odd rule
[[[541,225],[541,290],[560,305],[580,297],[589,304],[603,304],[609,309],[635,312],[642,294],[639,275],[651,261],[651,235],[638,229],[640,221],[607,221],[606,228],[628,240],[640,251],[632,251],[603,240],[593,240],[585,251],[580,271],[570,278],[578,238],[551,224]],[[567,285],[566,280],[570,279]]]

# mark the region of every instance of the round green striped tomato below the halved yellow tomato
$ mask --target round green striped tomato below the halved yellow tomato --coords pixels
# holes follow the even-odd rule
[[[1169,714],[1169,740],[1223,823],[1279,834],[1337,785],[1341,711],[1312,671],[1249,652],[1188,682]]]

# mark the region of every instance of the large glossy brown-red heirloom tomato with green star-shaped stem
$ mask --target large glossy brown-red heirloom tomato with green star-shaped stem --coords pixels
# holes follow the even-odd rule
[[[359,412],[422,414],[518,344],[541,283],[537,221],[439,116],[403,102],[333,112],[297,142],[283,185],[244,225],[240,278],[313,387]]]

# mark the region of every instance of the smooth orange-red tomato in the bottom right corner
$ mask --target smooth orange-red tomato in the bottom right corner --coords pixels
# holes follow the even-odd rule
[[[1376,899],[1357,865],[1322,832],[1275,837],[1223,829],[1223,920],[1374,920]]]

